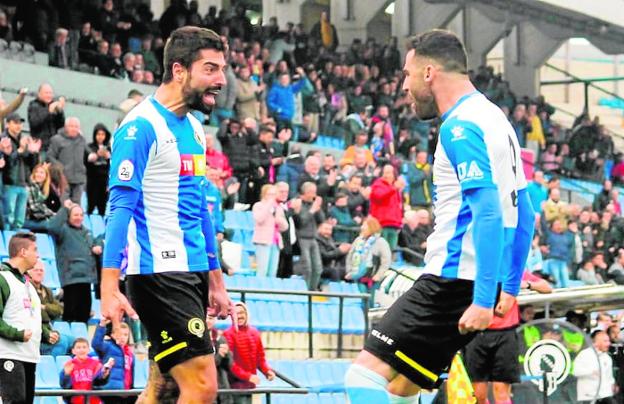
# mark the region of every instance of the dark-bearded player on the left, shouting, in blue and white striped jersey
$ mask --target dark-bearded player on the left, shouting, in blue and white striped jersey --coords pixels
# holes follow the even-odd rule
[[[113,327],[124,312],[138,315],[148,331],[150,358],[175,379],[181,403],[214,401],[217,377],[206,314],[225,318],[233,308],[203,195],[204,131],[190,113],[209,113],[215,105],[226,84],[226,52],[213,31],[175,30],[165,45],[163,84],[128,113],[113,138],[102,315]],[[126,245],[132,306],[119,290]],[[153,387],[142,402],[157,402]]]

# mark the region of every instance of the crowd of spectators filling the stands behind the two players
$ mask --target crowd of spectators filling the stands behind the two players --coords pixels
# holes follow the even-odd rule
[[[53,2],[23,1],[0,13],[0,37],[49,50],[50,64],[59,68],[154,84],[162,72],[163,39],[173,29],[202,25],[228,40],[228,83],[209,117],[215,130],[206,135],[207,203],[219,241],[231,237],[223,210],[253,212],[258,276],[302,275],[310,290],[322,288],[324,279],[347,280],[374,293],[393,261],[423,264],[432,230],[439,122],[420,121],[402,93],[396,38],[387,44],[355,40],[346,52],[337,52],[336,31],[326,14],[305,32],[292,23],[281,31],[275,19],[253,26],[241,7],[232,15],[211,8],[202,17],[196,1],[189,8],[172,1],[158,22],[146,7],[131,2],[123,10],[112,0],[101,8],[92,1],[59,2],[67,12],[47,3]],[[624,218],[614,187],[624,182],[624,162],[606,129],[586,114],[573,128],[563,128],[551,121],[555,110],[543,97],[516,97],[491,67],[470,74],[508,114],[521,146],[535,156],[529,193],[538,214],[528,270],[556,287],[624,284]],[[0,229],[53,236],[63,304],[38,286],[42,299],[54,303],[46,304],[48,326],[59,317],[86,322],[102,240],[93,239],[83,221],[85,213],[106,212],[114,128],[82,128],[80,117],[66,116],[65,99],[46,83],[24,119],[14,112],[24,93],[0,108],[5,118]],[[131,92],[125,112],[142,98]],[[23,130],[26,120],[29,134]],[[321,147],[321,138],[344,151]],[[567,203],[560,177],[604,181],[603,190],[591,205]],[[86,212],[80,206],[85,192]],[[240,325],[246,325],[246,312],[241,316]],[[604,330],[610,330],[621,355],[619,326],[617,332]],[[68,338],[60,336],[65,352],[72,344]],[[256,370],[247,362],[256,363],[250,355],[264,360],[258,340],[253,334],[243,341],[253,346],[240,348],[231,335],[221,339],[219,354],[229,358],[230,345],[243,362],[237,364],[238,376],[248,379],[243,385],[257,384]],[[117,341],[117,357],[129,355],[122,337],[107,341]],[[85,342],[88,348],[88,341],[76,340],[73,349]],[[101,340],[94,347],[105,349]],[[107,358],[102,355],[102,361]],[[266,363],[261,369],[271,371]],[[123,383],[123,367],[120,371]],[[65,376],[71,373],[68,366]]]

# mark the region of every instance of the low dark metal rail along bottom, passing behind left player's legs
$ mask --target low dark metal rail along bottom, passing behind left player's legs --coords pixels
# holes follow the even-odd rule
[[[271,394],[308,394],[310,391],[301,387],[301,385],[289,377],[285,376],[281,372],[273,369],[275,376],[288,383],[291,387],[287,388],[272,388],[272,387],[259,387],[256,389],[219,389],[218,395],[229,394],[233,396],[263,394],[266,396],[266,403],[271,404]],[[51,389],[51,390],[35,390],[36,397],[83,397],[84,402],[87,402],[87,397],[138,397],[143,392],[142,389],[131,390],[66,390],[66,389]]]

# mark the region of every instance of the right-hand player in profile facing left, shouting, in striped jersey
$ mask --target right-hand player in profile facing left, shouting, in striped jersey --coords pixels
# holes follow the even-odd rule
[[[418,116],[440,116],[435,229],[425,274],[387,311],[345,377],[353,404],[412,403],[453,355],[515,302],[533,233],[520,147],[505,114],[475,90],[453,33],[410,41],[403,89]],[[495,306],[498,285],[499,302]]]

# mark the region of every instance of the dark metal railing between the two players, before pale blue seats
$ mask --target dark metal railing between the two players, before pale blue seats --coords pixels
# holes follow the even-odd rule
[[[228,288],[228,292],[240,293],[241,301],[245,302],[248,294],[266,294],[286,295],[286,296],[307,296],[308,304],[308,356],[314,356],[314,327],[312,326],[312,298],[315,296],[326,298],[338,298],[338,346],[336,347],[336,355],[342,357],[343,350],[343,322],[344,322],[344,299],[361,299],[362,310],[364,311],[364,335],[368,334],[368,301],[370,295],[367,293],[333,293],[333,292],[311,292],[311,291],[295,291],[295,290],[267,290],[267,289],[249,289],[249,288]]]

